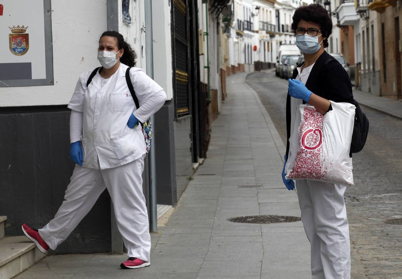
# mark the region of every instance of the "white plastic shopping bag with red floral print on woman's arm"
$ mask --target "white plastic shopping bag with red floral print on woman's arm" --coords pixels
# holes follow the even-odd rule
[[[299,106],[299,150],[286,179],[353,185],[349,151],[356,107],[349,103],[330,102],[332,110],[324,116],[314,106]]]

